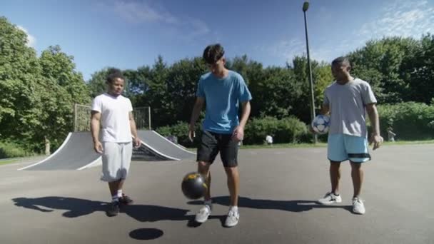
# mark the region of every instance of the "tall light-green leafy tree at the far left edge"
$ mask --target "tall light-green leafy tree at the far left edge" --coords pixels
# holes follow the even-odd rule
[[[0,137],[28,145],[41,116],[41,67],[24,31],[0,17]]]

